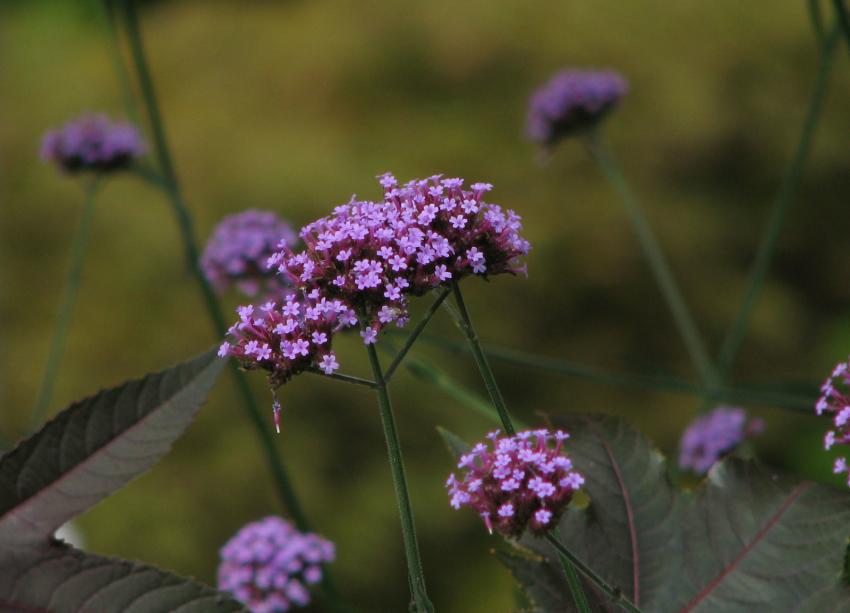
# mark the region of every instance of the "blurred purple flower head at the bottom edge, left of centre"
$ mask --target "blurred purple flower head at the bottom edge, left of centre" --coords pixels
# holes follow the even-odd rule
[[[309,604],[308,586],[322,580],[321,564],[335,552],[330,541],[272,516],[243,526],[220,555],[220,590],[253,613],[280,613]]]

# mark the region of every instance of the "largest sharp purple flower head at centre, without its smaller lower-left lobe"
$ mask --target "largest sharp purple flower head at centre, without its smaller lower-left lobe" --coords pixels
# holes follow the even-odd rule
[[[380,202],[352,199],[301,230],[306,248],[281,250],[270,263],[304,291],[319,289],[365,315],[374,342],[391,322],[408,319],[407,299],[468,275],[524,272],[530,248],[519,216],[485,202],[492,186],[436,175],[399,185],[379,177]]]

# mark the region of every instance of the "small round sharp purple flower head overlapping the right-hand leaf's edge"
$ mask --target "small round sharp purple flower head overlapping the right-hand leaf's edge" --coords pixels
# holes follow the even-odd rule
[[[487,529],[519,536],[540,535],[558,524],[584,477],[573,469],[562,447],[569,435],[560,430],[527,430],[500,437],[487,435],[458,462],[460,478],[449,476],[451,506],[472,507]]]

